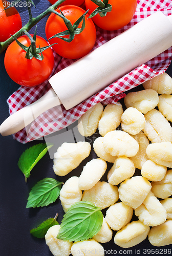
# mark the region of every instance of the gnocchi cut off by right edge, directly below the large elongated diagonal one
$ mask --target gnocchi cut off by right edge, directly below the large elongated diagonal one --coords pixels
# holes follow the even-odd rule
[[[146,154],[155,163],[172,168],[172,144],[170,142],[149,144]]]

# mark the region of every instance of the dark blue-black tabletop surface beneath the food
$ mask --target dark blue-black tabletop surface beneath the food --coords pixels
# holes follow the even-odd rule
[[[43,10],[46,10],[47,7],[50,5],[48,0],[34,0],[34,3],[36,5],[36,9],[32,7],[33,16],[36,16]],[[28,11],[26,7],[18,8],[18,11],[22,16],[23,25],[26,24],[28,21]],[[44,29],[46,20],[47,17],[42,19],[41,22],[39,22],[37,25],[37,34],[44,38],[46,38]],[[34,28],[30,32],[33,33]],[[8,104],[6,103],[7,98],[19,87],[18,84],[13,82],[6,73],[6,70],[4,68],[4,54],[5,52],[0,55],[0,123],[2,123],[9,116]],[[171,65],[169,66],[167,73],[172,76]],[[141,90],[142,87],[139,86],[139,88],[134,90],[138,89]],[[76,123],[71,125],[71,127],[69,127],[67,130],[71,129],[73,129],[73,131],[76,131]],[[65,129],[63,130],[63,132],[67,132],[67,130]],[[56,136],[50,136],[50,138],[48,138],[48,140],[50,140],[51,142],[55,142],[55,145],[50,152],[51,154],[49,155],[47,153],[44,158],[42,158],[36,164],[27,183],[25,183],[24,175],[22,174],[22,172],[20,172],[17,166],[18,159],[28,147],[40,143],[42,142],[42,140],[36,140],[27,144],[22,144],[14,140],[12,138],[12,135],[7,137],[3,137],[2,135],[0,135],[0,255],[2,256],[52,255],[48,246],[45,243],[45,239],[34,238],[30,234],[30,229],[36,227],[38,224],[45,221],[46,219],[54,217],[56,212],[58,212],[59,214],[57,220],[59,223],[61,223],[64,212],[60,205],[59,199],[57,199],[56,202],[47,207],[27,209],[26,204],[29,191],[34,184],[46,177],[52,177],[59,181],[65,182],[71,176],[79,176],[85,163],[96,157],[95,153],[92,150],[91,155],[87,159],[85,159],[78,168],[73,170],[65,177],[57,177],[54,174],[52,168],[52,155],[56,151],[60,143],[64,142],[64,136],[62,136],[62,133],[57,133],[57,140]],[[94,136],[86,138],[86,140],[93,144],[94,139],[98,136],[99,134],[97,132]],[[70,136],[67,137],[70,140]],[[73,136],[71,139],[74,139]],[[108,169],[110,169],[111,166],[112,165],[110,164]],[[138,173],[139,170],[137,170],[136,174]],[[106,177],[103,179],[105,180]],[[105,214],[105,210],[103,210],[103,214]],[[137,217],[134,219],[137,219]],[[120,248],[119,246],[115,245],[113,240],[109,243],[103,244],[103,247],[105,249],[105,255],[152,255],[170,254],[169,250],[166,252],[164,251],[164,249],[170,249],[171,245],[162,248],[154,247],[150,245],[150,243],[146,239],[139,245],[127,249]],[[151,250],[152,252],[150,252]],[[95,255],[98,254],[95,253]]]

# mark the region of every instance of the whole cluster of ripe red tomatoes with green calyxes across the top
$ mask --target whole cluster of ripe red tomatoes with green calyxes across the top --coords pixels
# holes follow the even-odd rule
[[[4,10],[0,0],[0,41],[7,40],[22,28],[15,7]],[[48,0],[54,4],[56,0]],[[69,59],[81,58],[95,45],[96,26],[117,30],[130,22],[137,0],[66,0],[47,19],[47,41],[36,35],[15,39],[6,50],[5,68],[21,86],[37,86],[49,78],[54,66],[53,51]],[[98,6],[97,6],[97,4]],[[13,63],[11,65],[11,63]]]

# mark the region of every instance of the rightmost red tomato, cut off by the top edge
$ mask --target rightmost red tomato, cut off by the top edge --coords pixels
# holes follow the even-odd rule
[[[101,0],[102,1],[102,0]],[[103,2],[103,1],[102,1]],[[137,0],[109,0],[112,11],[101,17],[96,14],[92,19],[100,28],[105,30],[117,30],[127,25],[136,11]],[[98,6],[91,0],[85,0],[85,6],[91,14]]]

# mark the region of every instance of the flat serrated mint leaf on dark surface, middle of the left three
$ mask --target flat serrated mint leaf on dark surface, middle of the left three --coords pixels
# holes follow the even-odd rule
[[[62,182],[53,178],[38,181],[31,189],[26,208],[47,206],[58,198]]]

